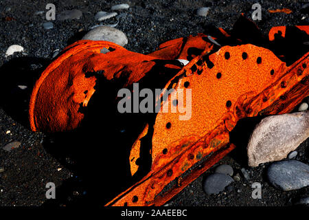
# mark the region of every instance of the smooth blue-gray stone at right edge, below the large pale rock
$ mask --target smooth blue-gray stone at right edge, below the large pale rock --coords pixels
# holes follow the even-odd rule
[[[268,180],[284,191],[309,185],[309,166],[297,160],[275,162],[267,170]]]

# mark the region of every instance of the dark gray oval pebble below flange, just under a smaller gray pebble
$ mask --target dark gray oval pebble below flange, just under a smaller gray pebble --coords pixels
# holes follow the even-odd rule
[[[214,173],[205,179],[203,188],[208,195],[218,194],[225,190],[225,187],[229,186],[231,182],[233,182],[232,177],[222,173]]]

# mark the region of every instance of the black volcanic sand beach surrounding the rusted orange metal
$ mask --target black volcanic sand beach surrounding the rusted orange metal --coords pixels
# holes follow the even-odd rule
[[[160,43],[182,36],[207,34],[214,28],[230,30],[241,13],[251,18],[253,3],[262,5],[262,21],[256,21],[260,30],[267,34],[277,25],[308,25],[308,9],[301,10],[304,1],[0,1],[0,206],[102,206],[117,192],[124,190],[128,170],[122,149],[122,134],[114,137],[102,135],[113,122],[98,120],[90,131],[54,134],[34,133],[27,119],[28,103],[32,87],[41,72],[51,63],[55,50],[82,39],[91,27],[99,24],[113,25],[117,19],[96,21],[99,11],[111,12],[111,6],[128,3],[130,8],[115,27],[128,37],[127,50],[147,54]],[[82,18],[71,21],[53,21],[54,28],[45,30],[45,5],[54,3],[56,13],[78,9]],[[207,17],[196,15],[196,10],[209,7]],[[289,8],[291,14],[268,10]],[[36,13],[45,11],[43,14]],[[5,58],[10,45],[21,45],[24,52]],[[26,85],[19,89],[16,85]],[[293,206],[301,197],[309,197],[309,187],[283,192],[271,186],[266,179],[268,163],[256,168],[247,164],[246,146],[252,131],[260,119],[253,118],[239,124],[237,148],[218,164],[229,164],[240,181],[234,181],[229,190],[218,195],[206,195],[202,182],[214,168],[198,177],[168,206]],[[239,127],[238,126],[238,127]],[[115,126],[113,126],[115,127]],[[101,131],[102,129],[102,131]],[[76,138],[78,135],[78,138]],[[18,148],[5,151],[10,142],[21,142]],[[115,154],[115,148],[119,154]],[[308,164],[308,140],[297,148],[297,160]],[[106,158],[114,158],[106,166]],[[216,164],[216,165],[218,165]],[[114,170],[114,168],[116,170]],[[249,170],[249,179],[242,175],[241,168]],[[112,177],[110,177],[112,175]],[[45,185],[56,184],[56,199],[46,199]],[[253,199],[251,185],[262,184],[262,199]],[[130,184],[130,183],[127,183]]]

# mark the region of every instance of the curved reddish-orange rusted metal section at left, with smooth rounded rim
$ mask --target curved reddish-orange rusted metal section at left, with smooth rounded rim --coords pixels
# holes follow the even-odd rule
[[[30,126],[33,131],[70,131],[76,129],[84,113],[80,106],[87,104],[95,92],[95,76],[102,72],[106,80],[124,80],[122,87],[136,83],[152,69],[157,59],[190,58],[197,56],[211,43],[204,34],[176,39],[160,46],[149,55],[130,52],[107,41],[78,41],[65,48],[41,75],[30,100]],[[102,53],[103,48],[110,52]],[[192,52],[193,51],[193,52]],[[166,67],[177,68],[174,65]],[[121,89],[121,87],[119,87]]]

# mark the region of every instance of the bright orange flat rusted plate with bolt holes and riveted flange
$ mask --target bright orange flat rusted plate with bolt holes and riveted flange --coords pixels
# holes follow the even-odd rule
[[[175,94],[184,88],[192,89],[192,117],[179,120],[181,113],[158,113],[153,125],[150,173],[106,205],[163,204],[172,196],[160,197],[163,188],[201,158],[226,146],[229,131],[238,120],[293,109],[309,95],[308,56],[309,53],[286,67],[273,52],[249,44],[225,46],[214,54],[205,52],[194,58],[175,76],[181,78],[174,87]],[[165,89],[168,87],[170,84]],[[175,97],[171,94],[162,108]],[[186,100],[178,100],[178,104],[182,102]],[[141,137],[147,131],[148,126]],[[139,157],[139,146],[135,144],[130,155],[135,158],[130,161],[133,174],[137,170],[134,163]]]

